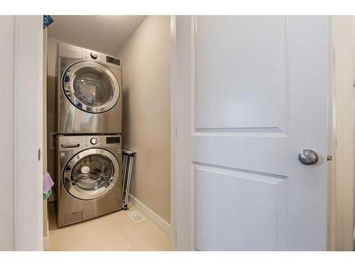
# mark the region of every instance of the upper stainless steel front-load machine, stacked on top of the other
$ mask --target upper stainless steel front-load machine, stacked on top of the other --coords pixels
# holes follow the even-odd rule
[[[58,43],[57,132],[121,133],[121,60]]]

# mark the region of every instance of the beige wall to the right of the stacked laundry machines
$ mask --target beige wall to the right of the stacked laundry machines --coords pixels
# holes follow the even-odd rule
[[[170,223],[170,16],[148,16],[116,56],[123,145],[137,152],[130,192]]]

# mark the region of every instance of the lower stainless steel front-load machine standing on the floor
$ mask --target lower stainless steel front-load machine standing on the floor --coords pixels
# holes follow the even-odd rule
[[[121,135],[58,135],[58,227],[122,209]]]

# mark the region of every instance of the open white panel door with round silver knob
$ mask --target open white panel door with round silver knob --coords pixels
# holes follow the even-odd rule
[[[325,250],[328,24],[178,16],[178,250]]]

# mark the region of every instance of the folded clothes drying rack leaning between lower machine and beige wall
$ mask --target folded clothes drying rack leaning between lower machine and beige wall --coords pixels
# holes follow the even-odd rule
[[[131,174],[133,168],[133,159],[136,152],[131,150],[122,150],[123,165],[122,165],[122,209],[129,210],[129,185],[131,184]]]

